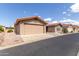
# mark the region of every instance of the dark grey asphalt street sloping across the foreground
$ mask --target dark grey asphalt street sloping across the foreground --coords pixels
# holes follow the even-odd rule
[[[78,51],[79,33],[76,33],[0,50],[0,56],[76,56]]]

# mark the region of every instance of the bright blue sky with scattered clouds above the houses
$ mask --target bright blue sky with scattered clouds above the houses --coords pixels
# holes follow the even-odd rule
[[[0,4],[0,24],[11,26],[17,18],[41,16],[47,21],[79,21],[79,11],[74,10],[74,3],[19,3]],[[72,8],[71,8],[72,7]]]

